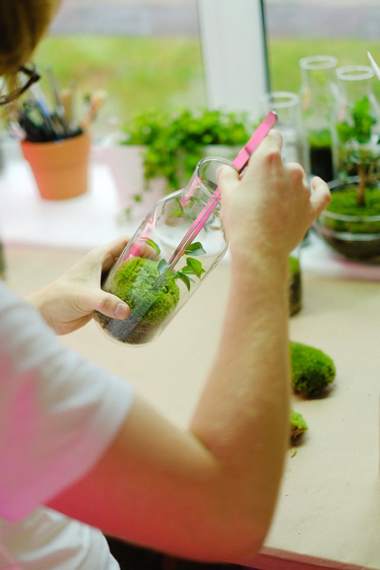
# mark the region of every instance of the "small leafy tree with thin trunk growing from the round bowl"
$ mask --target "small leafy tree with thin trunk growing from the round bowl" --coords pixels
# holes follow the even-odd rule
[[[373,141],[373,126],[377,120],[370,113],[370,101],[367,96],[358,100],[354,105],[350,121],[337,123],[338,139],[343,150],[340,153],[340,178],[358,176],[357,205],[366,205],[367,186],[374,185],[379,180],[380,150],[374,150],[370,145]],[[379,144],[377,137],[375,144]]]

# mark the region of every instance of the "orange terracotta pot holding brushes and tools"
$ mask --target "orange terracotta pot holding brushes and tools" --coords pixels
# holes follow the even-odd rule
[[[22,141],[24,158],[29,162],[42,198],[65,200],[88,188],[88,135],[52,143]]]

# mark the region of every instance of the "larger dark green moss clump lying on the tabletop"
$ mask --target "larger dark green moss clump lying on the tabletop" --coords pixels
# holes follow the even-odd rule
[[[320,396],[336,376],[333,360],[318,348],[290,343],[293,389],[306,398]]]

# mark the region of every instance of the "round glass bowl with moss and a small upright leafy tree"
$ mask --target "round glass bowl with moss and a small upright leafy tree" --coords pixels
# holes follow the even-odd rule
[[[380,146],[367,96],[356,101],[350,120],[336,125],[338,177],[332,199],[318,217],[318,233],[350,259],[380,259]]]

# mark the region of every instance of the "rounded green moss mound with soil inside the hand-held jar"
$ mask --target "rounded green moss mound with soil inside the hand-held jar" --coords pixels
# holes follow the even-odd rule
[[[101,327],[122,343],[144,344],[173,312],[179,301],[179,287],[170,274],[157,280],[158,262],[135,257],[122,263],[113,275],[109,292],[130,307],[125,320],[112,319],[100,312],[95,318]]]

